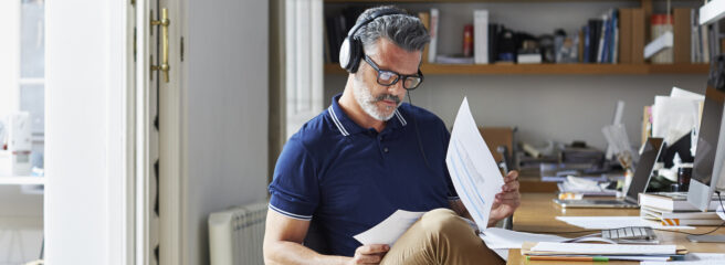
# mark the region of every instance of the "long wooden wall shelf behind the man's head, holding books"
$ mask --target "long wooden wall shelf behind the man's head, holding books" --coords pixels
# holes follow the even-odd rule
[[[425,75],[649,75],[707,74],[708,64],[423,64]],[[325,74],[346,74],[325,64]]]

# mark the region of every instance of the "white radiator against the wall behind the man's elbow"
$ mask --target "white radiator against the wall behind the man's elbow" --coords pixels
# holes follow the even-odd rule
[[[263,265],[262,242],[267,202],[209,215],[211,265]]]

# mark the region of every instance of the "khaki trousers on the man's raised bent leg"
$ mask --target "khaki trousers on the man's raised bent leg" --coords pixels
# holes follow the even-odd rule
[[[505,264],[488,250],[473,229],[455,212],[435,209],[423,214],[385,255],[391,264]]]

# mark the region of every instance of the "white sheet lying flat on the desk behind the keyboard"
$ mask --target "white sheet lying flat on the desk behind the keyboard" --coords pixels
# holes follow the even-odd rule
[[[627,226],[650,226],[653,229],[695,229],[693,226],[663,226],[645,222],[640,216],[556,216],[556,220],[587,230],[608,230]]]

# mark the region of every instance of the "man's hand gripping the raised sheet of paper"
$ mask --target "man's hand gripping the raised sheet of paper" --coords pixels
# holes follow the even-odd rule
[[[496,194],[496,199],[491,205],[491,215],[488,215],[488,226],[496,224],[509,216],[521,205],[521,193],[518,193],[518,172],[512,170],[504,178],[502,191]]]

